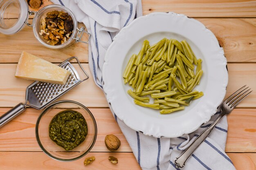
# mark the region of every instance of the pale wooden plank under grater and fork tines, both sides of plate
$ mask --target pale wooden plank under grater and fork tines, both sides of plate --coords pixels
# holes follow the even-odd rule
[[[85,70],[90,74],[88,64],[82,64]],[[78,69],[78,64],[74,64]],[[229,68],[229,84],[227,95],[231,95],[238,88],[247,84],[254,90],[239,107],[256,107],[256,64],[228,64]],[[18,79],[14,77],[16,64],[0,64],[0,107],[13,107],[20,102],[24,102],[25,90],[32,81]],[[79,84],[70,92],[65,94],[60,99],[70,99],[85,104],[89,107],[108,107],[103,92],[98,88],[90,78]]]

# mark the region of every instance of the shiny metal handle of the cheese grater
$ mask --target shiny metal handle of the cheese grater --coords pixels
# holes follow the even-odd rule
[[[4,113],[0,117],[0,127],[4,126],[7,122],[9,122],[14,117],[18,116],[20,113],[24,112],[26,110],[26,106],[22,103],[17,104],[14,106],[11,110],[9,110],[7,113]]]

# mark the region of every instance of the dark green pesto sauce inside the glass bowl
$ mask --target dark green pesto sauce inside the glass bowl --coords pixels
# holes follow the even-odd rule
[[[52,118],[49,137],[65,150],[79,146],[88,133],[83,115],[74,110],[63,110]]]

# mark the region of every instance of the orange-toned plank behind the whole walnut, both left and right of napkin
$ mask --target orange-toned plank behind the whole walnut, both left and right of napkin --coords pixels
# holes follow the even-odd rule
[[[128,142],[116,123],[110,109],[89,108],[94,115],[98,135],[93,152],[108,152],[104,139],[114,134],[121,140],[117,152],[132,152]],[[0,108],[0,115],[9,108]],[[35,123],[40,110],[27,109],[20,116],[0,128],[0,151],[40,151],[35,139]],[[235,109],[228,116],[228,137],[226,152],[256,151],[256,109]]]

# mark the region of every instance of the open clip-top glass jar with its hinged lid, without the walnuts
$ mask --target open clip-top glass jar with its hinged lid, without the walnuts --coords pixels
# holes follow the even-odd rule
[[[47,43],[46,40],[43,39],[40,33],[40,27],[42,24],[42,19],[46,17],[46,14],[51,11],[63,11],[68,13],[74,23],[73,33],[70,38],[60,45],[51,45]],[[29,24],[29,16],[34,15],[34,19],[31,24]],[[78,22],[76,17],[70,9],[67,7],[51,4],[46,7],[43,7],[38,12],[29,11],[29,7],[26,0],[0,0],[0,33],[6,35],[12,35],[22,30],[25,25],[31,26],[33,28],[34,35],[36,39],[43,44],[44,46],[51,49],[61,49],[67,46],[70,46],[74,42],[83,42],[88,44],[91,38],[90,33],[85,31],[84,27],[78,28]],[[83,33],[87,33],[89,35],[88,40],[81,41]]]

